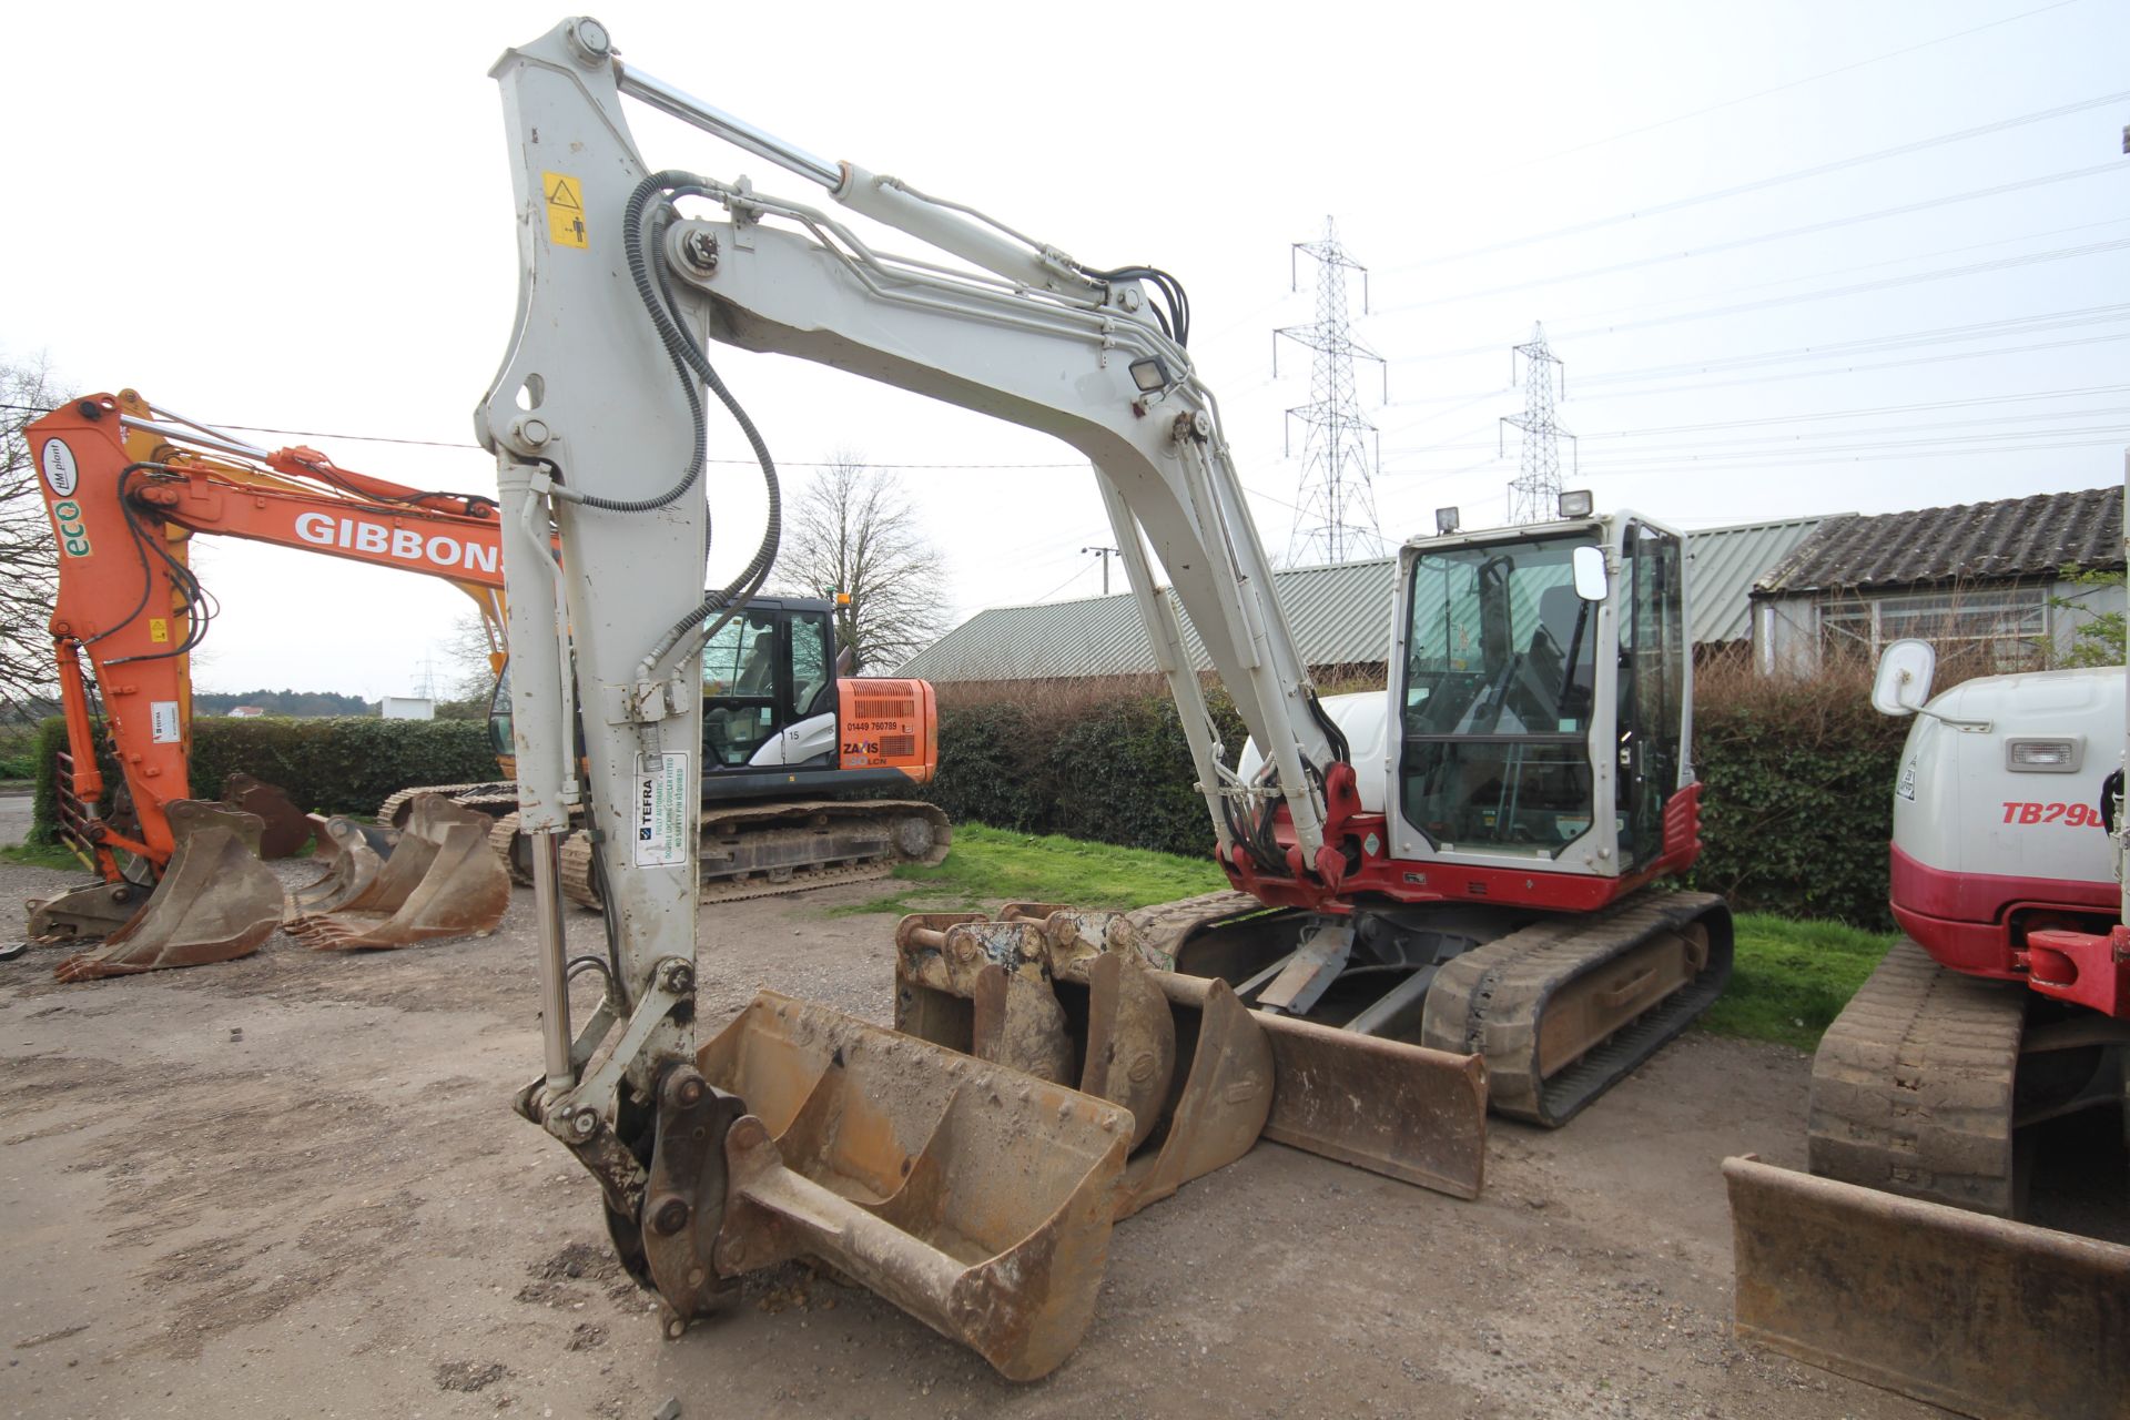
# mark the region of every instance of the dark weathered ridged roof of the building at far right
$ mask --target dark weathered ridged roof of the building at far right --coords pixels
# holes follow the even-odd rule
[[[2121,488],[2034,494],[1949,509],[1830,517],[1755,594],[1870,590],[1947,581],[2047,577],[2066,562],[2117,568]]]

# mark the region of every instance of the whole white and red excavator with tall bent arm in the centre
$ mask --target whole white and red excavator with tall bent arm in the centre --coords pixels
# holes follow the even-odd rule
[[[812,1256],[1042,1375],[1086,1326],[1110,1224],[1261,1135],[1472,1196],[1489,1084],[1495,1109],[1557,1124],[1721,990],[1727,911],[1655,886],[1700,847],[1676,532],[1585,496],[1553,524],[1412,543],[1389,692],[1327,707],[1169,275],[1086,266],[824,162],[624,64],[590,17],[492,72],[522,285],[475,424],[498,468],[545,1039],[520,1109],[599,1177],[673,1335],[741,1273]],[[624,98],[924,253],[748,179],[654,168]],[[1235,892],[914,918],[899,1030],[765,992],[697,1041],[697,660],[777,543],[775,468],[707,345],[1088,458]],[[760,545],[711,596],[705,390],[769,488]],[[1250,728],[1248,771],[1178,602]],[[573,809],[607,918],[607,950],[579,958],[558,892]],[[573,1030],[588,973],[601,1001]]]

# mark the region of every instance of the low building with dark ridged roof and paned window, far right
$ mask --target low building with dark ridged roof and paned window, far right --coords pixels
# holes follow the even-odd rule
[[[1810,675],[1917,637],[1940,658],[1979,658],[1981,671],[2055,664],[2081,624],[2124,609],[2119,583],[2077,585],[2064,573],[2119,573],[2121,517],[2121,488],[2094,488],[1821,519],[1753,585],[1755,662]]]

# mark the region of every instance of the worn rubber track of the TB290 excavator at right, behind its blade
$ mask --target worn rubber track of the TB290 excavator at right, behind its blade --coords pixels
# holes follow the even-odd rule
[[[2013,1216],[2026,992],[1898,943],[1813,1056],[1810,1171]]]

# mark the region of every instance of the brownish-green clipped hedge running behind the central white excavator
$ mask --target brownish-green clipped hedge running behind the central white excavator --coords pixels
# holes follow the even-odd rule
[[[1887,839],[1908,722],[1851,679],[1713,675],[1695,696],[1702,860],[1693,886],[1738,911],[1891,926]],[[1233,762],[1244,728],[1214,692]],[[939,709],[927,796],[956,822],[1206,856],[1212,826],[1165,694],[1012,690]]]

